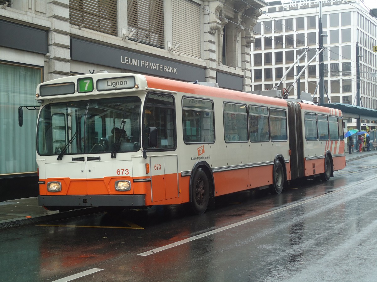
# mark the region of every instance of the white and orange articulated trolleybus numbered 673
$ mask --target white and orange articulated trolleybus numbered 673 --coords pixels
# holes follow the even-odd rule
[[[47,209],[191,203],[282,192],[345,167],[337,109],[128,73],[38,85],[40,196]]]

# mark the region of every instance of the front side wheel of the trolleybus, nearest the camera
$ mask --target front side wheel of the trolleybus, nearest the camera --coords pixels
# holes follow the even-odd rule
[[[205,212],[208,207],[209,193],[210,185],[207,174],[205,174],[205,172],[199,168],[194,175],[191,188],[191,207],[195,214],[202,214]]]

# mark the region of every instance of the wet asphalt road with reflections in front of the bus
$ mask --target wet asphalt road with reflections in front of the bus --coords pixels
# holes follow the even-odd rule
[[[334,176],[221,197],[199,216],[163,206],[3,230],[0,280],[376,281],[375,157]]]

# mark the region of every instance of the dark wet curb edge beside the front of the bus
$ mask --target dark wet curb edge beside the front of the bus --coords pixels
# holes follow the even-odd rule
[[[101,207],[88,207],[82,209],[74,209],[72,211],[67,212],[59,212],[57,214],[48,214],[42,215],[38,217],[31,217],[31,218],[22,218],[19,219],[11,219],[8,221],[0,222],[0,230],[4,229],[11,229],[21,226],[28,226],[28,225],[35,225],[41,224],[48,221],[55,221],[55,220],[62,220],[72,217],[79,217],[81,215],[88,215],[88,214],[95,214],[98,212],[103,212],[103,208]]]

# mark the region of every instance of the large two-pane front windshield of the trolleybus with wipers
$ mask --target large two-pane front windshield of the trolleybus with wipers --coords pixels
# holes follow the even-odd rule
[[[111,153],[140,149],[138,97],[119,97],[49,104],[40,112],[39,155]],[[62,153],[63,151],[63,153]]]

